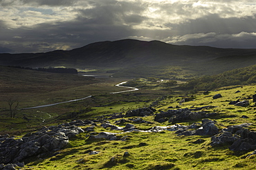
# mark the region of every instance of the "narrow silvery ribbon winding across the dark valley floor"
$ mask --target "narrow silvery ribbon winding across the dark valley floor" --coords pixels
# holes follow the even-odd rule
[[[113,92],[110,94],[117,94],[117,93],[125,93],[125,92],[129,92],[129,91],[138,91],[138,88],[134,88],[134,87],[129,87],[129,86],[122,86],[122,84],[125,84],[126,82],[121,82],[120,84],[116,84],[116,86],[118,87],[123,87],[123,88],[130,88],[131,90],[127,90],[127,91],[118,91],[118,92]],[[89,95],[87,97],[83,97],[81,99],[76,99],[76,100],[68,100],[66,102],[59,102],[59,103],[55,103],[55,104],[46,104],[46,105],[42,105],[42,106],[35,106],[35,107],[27,107],[27,108],[20,108],[19,110],[27,110],[27,109],[33,109],[33,108],[43,108],[43,107],[48,107],[48,106],[55,106],[57,104],[64,104],[64,103],[69,103],[69,102],[77,102],[80,100],[86,100],[88,98],[92,97],[92,95]]]

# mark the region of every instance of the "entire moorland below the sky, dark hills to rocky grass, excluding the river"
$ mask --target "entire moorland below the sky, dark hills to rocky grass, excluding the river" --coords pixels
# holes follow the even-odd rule
[[[0,54],[1,166],[255,169],[255,57],[132,39]],[[139,90],[113,94],[120,82]]]

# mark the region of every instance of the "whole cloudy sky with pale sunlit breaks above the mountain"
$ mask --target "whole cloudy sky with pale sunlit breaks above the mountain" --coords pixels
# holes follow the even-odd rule
[[[119,39],[256,48],[256,1],[0,0],[0,53]]]

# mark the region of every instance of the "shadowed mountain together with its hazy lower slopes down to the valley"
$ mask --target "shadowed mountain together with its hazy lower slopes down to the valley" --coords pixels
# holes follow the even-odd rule
[[[161,41],[102,41],[73,50],[0,54],[0,65],[95,68],[114,77],[191,79],[256,64],[256,49],[176,46]],[[174,68],[175,67],[175,68]]]

